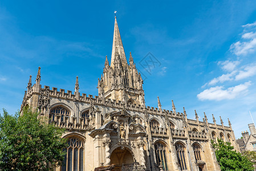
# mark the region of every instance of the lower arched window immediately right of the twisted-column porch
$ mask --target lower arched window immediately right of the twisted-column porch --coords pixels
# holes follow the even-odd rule
[[[163,169],[168,170],[168,161],[166,158],[166,146],[162,143],[156,143],[155,153],[156,153],[157,165],[160,165],[160,162],[161,162],[162,166],[164,166]]]

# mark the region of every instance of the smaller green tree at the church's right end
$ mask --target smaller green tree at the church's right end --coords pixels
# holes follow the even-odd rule
[[[234,150],[231,143],[224,143],[224,141],[218,139],[218,143],[213,143],[215,149],[216,158],[221,166],[221,170],[254,170],[253,163],[250,162],[241,153]]]

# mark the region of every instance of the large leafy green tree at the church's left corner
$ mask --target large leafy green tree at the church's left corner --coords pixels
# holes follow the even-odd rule
[[[52,170],[62,164],[66,139],[63,129],[38,119],[26,108],[23,114],[0,114],[0,170]]]

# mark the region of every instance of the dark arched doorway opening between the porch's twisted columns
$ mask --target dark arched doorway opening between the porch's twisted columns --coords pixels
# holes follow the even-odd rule
[[[124,166],[125,169],[131,164],[133,164],[133,156],[131,151],[128,148],[121,148],[118,147],[111,153],[110,156],[110,164],[115,165],[115,169],[119,169],[121,171],[122,166]]]

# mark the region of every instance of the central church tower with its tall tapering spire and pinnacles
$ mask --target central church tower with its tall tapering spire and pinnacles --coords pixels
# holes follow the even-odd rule
[[[124,104],[145,104],[143,79],[129,55],[129,64],[124,52],[119,28],[115,17],[111,64],[106,56],[103,75],[99,79],[99,97],[121,101]]]

